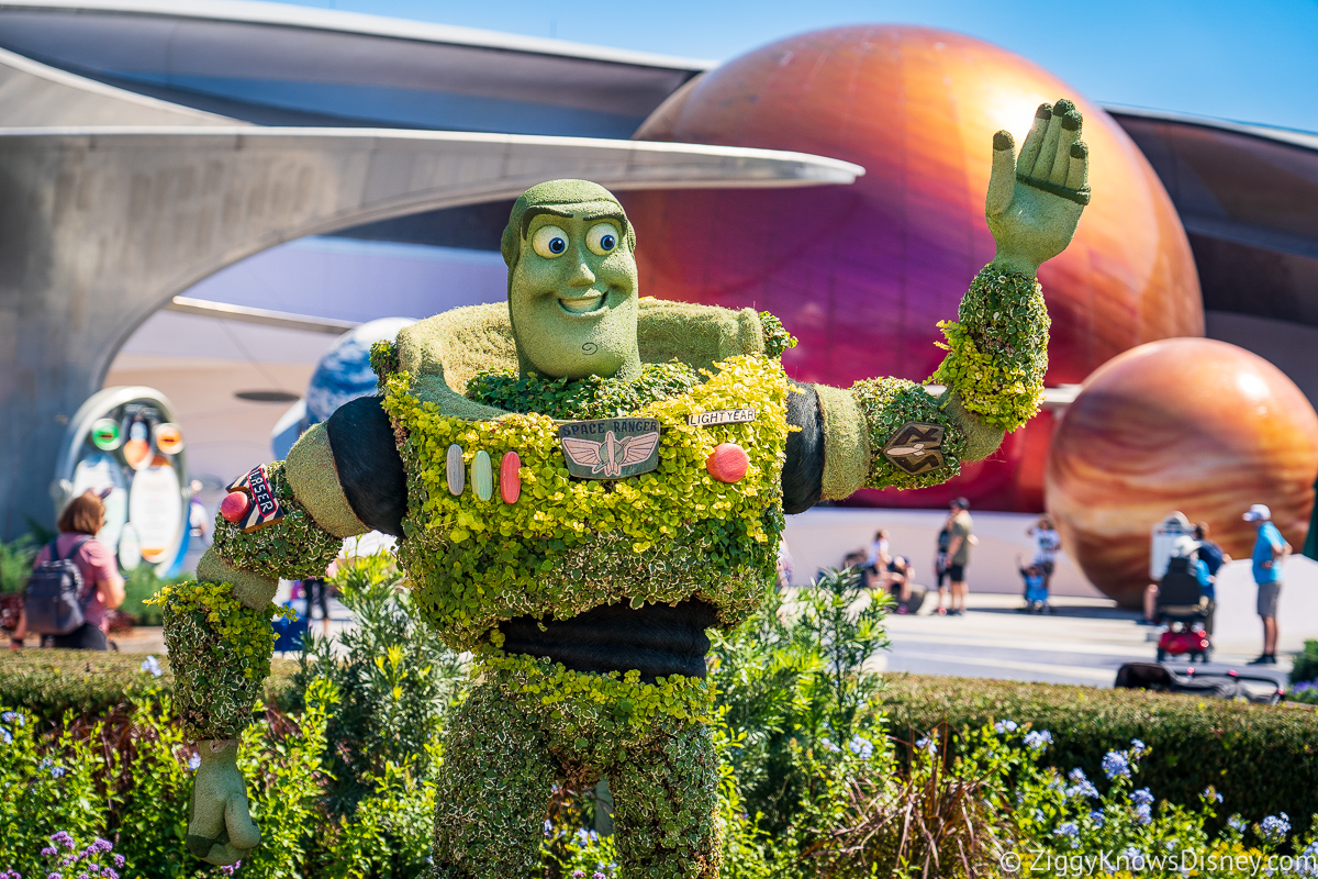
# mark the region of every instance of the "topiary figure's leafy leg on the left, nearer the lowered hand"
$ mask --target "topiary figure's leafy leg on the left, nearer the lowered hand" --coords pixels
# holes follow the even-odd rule
[[[556,770],[544,734],[489,684],[453,710],[435,807],[442,879],[529,876]]]

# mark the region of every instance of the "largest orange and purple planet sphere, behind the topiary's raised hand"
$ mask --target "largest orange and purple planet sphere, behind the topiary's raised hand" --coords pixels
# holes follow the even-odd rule
[[[801,150],[865,166],[851,186],[627,194],[641,291],[772,311],[800,339],[797,380],[928,378],[940,320],[994,256],[983,217],[992,134],[1017,145],[1043,101],[1085,113],[1093,203],[1040,271],[1048,385],[1078,383],[1155,339],[1203,335],[1194,260],[1144,156],[1107,113],[1036,65],[970,37],[850,26],[792,37],[675,92],[642,140]],[[1046,415],[946,486],[867,493],[880,506],[1043,509]]]

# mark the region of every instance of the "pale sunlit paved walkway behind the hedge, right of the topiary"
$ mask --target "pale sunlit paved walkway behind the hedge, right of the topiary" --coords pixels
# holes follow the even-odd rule
[[[1111,687],[1123,663],[1153,662],[1161,631],[1102,598],[1057,598],[1050,615],[1019,613],[1019,596],[971,593],[961,617],[932,615],[934,605],[929,597],[919,615],[888,617],[892,648],[878,669]],[[1246,666],[1255,655],[1220,652],[1197,668],[1257,673]],[[1285,680],[1290,664],[1265,668]]]

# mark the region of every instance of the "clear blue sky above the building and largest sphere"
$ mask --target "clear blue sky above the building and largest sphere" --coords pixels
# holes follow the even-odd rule
[[[805,30],[908,22],[1016,51],[1101,103],[1318,130],[1318,0],[293,0],[725,61]]]

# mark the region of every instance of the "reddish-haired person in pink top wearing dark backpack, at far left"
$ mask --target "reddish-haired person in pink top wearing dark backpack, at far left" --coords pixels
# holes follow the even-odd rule
[[[124,604],[124,579],[115,552],[95,536],[104,523],[105,505],[94,492],[59,514],[59,535],[33,561],[11,648],[21,648],[29,631],[65,650],[108,648],[105,611]]]

